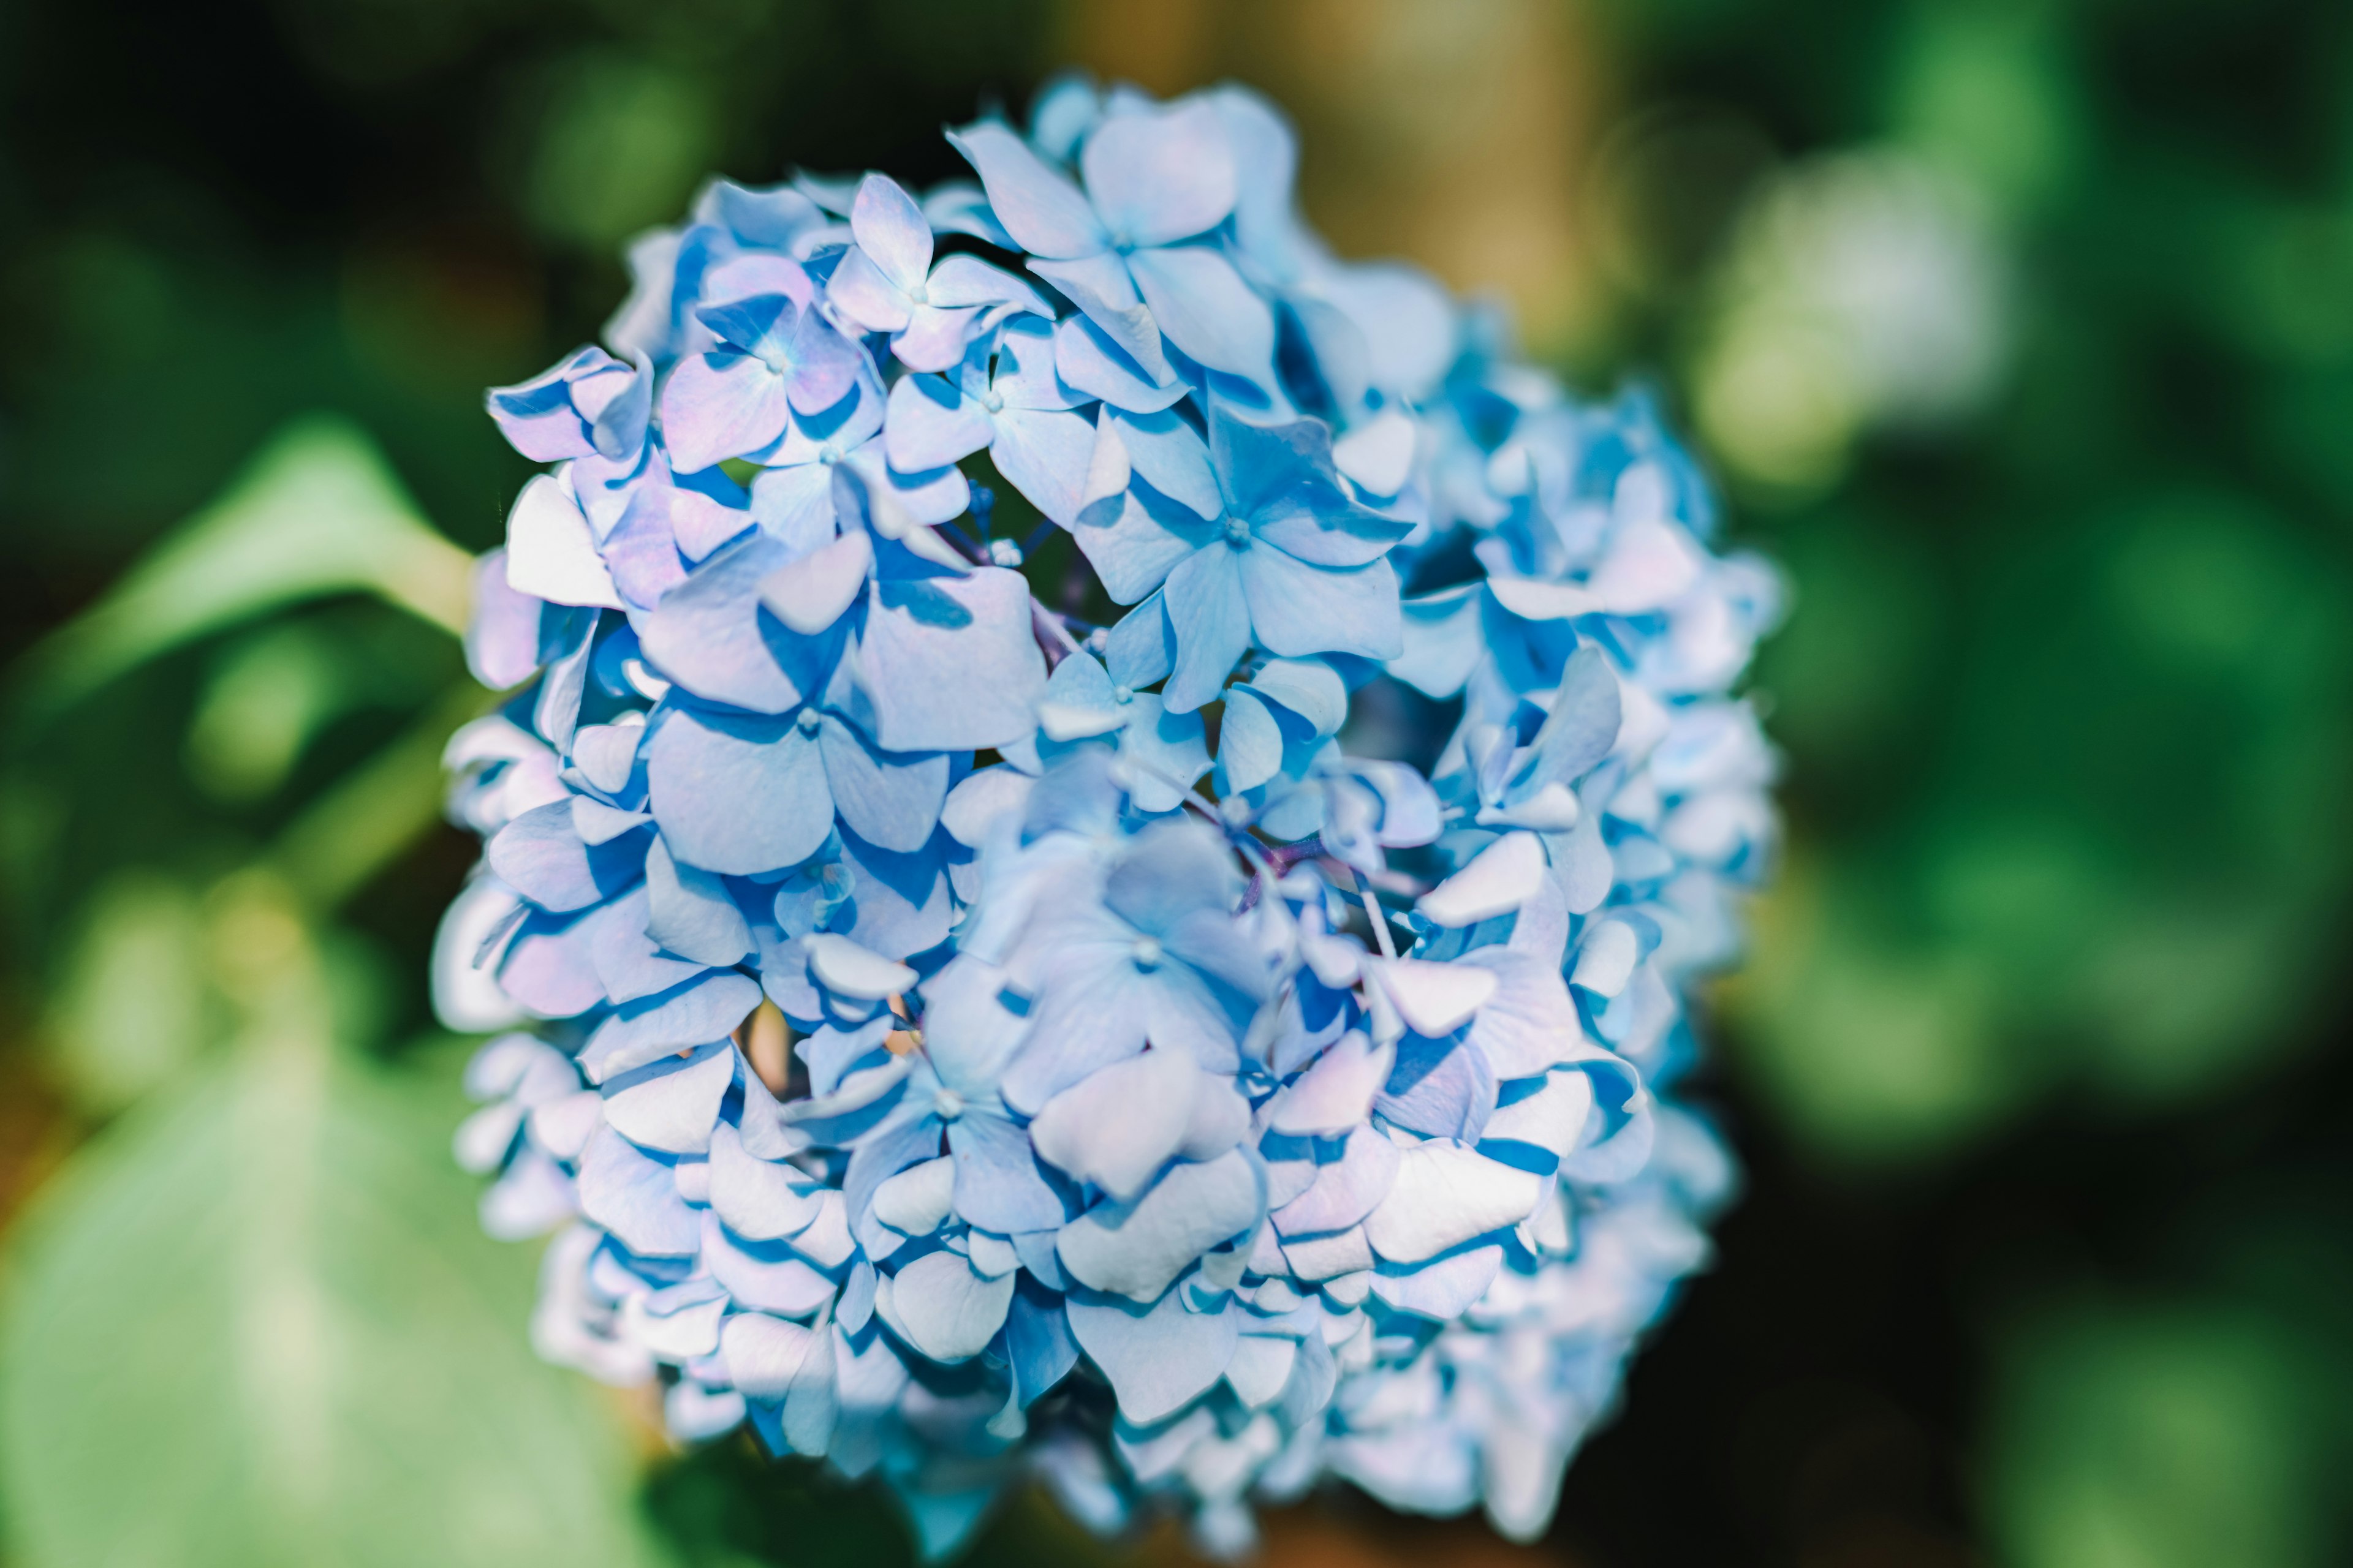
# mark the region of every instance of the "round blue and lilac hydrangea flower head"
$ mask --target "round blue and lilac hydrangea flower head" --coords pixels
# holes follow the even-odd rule
[[[489,397],[553,468],[449,750],[485,1222],[558,1232],[546,1354],[934,1554],[1024,1476],[1532,1535],[1729,1187],[1661,1095],[1772,846],[1774,576],[1645,400],[1320,249],[1257,96],[951,141],[711,186]]]

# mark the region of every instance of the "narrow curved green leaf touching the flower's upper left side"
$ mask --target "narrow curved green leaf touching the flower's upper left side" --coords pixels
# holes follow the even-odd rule
[[[416,512],[362,430],[311,414],[228,491],[26,658],[26,696],[64,708],[195,637],[339,592],[374,592],[466,630],[473,557]]]

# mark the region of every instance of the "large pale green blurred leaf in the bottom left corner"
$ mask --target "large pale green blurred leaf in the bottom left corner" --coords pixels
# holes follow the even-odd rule
[[[264,1027],[19,1232],[0,1387],[26,1568],[647,1563],[614,1410],[532,1359],[454,1095]]]

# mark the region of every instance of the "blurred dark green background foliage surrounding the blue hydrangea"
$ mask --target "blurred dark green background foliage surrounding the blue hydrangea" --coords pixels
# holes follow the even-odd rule
[[[1247,80],[1346,254],[1664,388],[1786,562],[1720,1258],[1558,1528],[1275,1568],[2346,1561],[2353,9],[0,5],[0,1561],[889,1563],[532,1361],[421,973],[480,414],[706,172]],[[1176,1563],[1014,1502],[984,1561]]]

